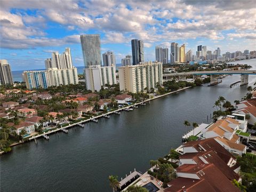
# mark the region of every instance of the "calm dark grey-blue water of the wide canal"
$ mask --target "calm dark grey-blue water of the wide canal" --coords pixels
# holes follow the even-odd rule
[[[49,141],[39,139],[38,145],[13,147],[1,156],[1,191],[111,191],[108,175],[121,178],[134,168],[144,172],[150,159],[178,147],[185,119],[207,123],[219,95],[241,99],[247,86],[229,88],[238,79],[228,76],[217,86],[194,87],[84,129],[50,135]],[[252,85],[256,75],[249,81]]]

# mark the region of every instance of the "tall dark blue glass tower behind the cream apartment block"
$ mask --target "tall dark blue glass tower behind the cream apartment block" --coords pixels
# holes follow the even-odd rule
[[[144,61],[144,45],[143,41],[132,39],[132,65],[138,65]]]

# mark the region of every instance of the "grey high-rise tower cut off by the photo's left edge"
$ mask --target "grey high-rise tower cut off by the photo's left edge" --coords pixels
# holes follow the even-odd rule
[[[11,66],[7,60],[0,60],[0,85],[13,84]]]

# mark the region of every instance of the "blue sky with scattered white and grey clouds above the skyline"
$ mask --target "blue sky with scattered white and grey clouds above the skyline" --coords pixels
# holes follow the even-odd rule
[[[131,39],[144,42],[145,61],[155,46],[171,42],[186,52],[206,45],[221,53],[256,50],[255,1],[13,1],[1,0],[0,58],[12,70],[43,69],[52,51],[70,47],[74,66],[83,66],[79,35],[100,34],[101,52],[116,62],[131,54]]]

